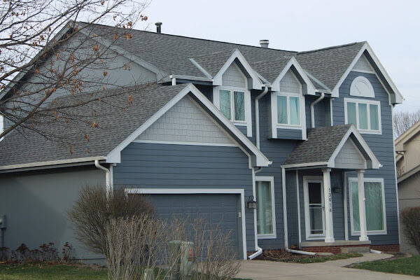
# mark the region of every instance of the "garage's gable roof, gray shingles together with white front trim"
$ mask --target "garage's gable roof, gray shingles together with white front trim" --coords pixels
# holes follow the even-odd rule
[[[14,130],[0,141],[0,170],[90,160],[118,162],[118,153],[131,143],[134,135],[137,137],[141,133],[139,128],[145,130],[154,123],[153,118],[162,116],[188,93],[193,94],[202,106],[207,106],[222,127],[254,157],[255,165],[269,165],[265,155],[192,84],[146,84],[97,92],[102,101],[78,105],[66,111],[69,119],[83,116],[79,120],[66,123],[65,116],[59,120],[50,116],[41,117],[43,119],[39,123],[42,127],[38,129],[45,132],[45,137],[27,129]],[[127,101],[129,96],[132,98],[131,105]],[[62,97],[57,101],[62,104],[78,102],[78,99]],[[97,128],[91,126],[93,122],[97,123]]]

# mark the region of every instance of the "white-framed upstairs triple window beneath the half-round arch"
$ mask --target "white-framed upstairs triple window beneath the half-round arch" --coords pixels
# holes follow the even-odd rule
[[[346,123],[352,123],[360,132],[381,134],[381,105],[377,101],[344,99]]]

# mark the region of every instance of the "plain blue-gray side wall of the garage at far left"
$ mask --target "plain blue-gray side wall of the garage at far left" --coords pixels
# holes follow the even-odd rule
[[[103,258],[87,251],[73,235],[67,211],[85,186],[105,186],[105,173],[93,166],[0,174],[0,215],[7,217],[4,245],[15,250],[69,241],[76,258]]]

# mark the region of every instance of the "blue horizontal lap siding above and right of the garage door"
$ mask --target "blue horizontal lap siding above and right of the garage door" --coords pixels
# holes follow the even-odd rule
[[[115,188],[238,188],[253,195],[248,157],[237,147],[132,143],[113,167]],[[246,209],[247,250],[255,250],[253,211]]]

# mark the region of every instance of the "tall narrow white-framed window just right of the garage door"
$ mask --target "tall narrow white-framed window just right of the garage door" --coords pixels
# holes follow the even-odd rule
[[[258,238],[276,238],[273,177],[255,177]]]

